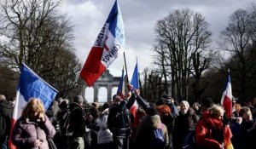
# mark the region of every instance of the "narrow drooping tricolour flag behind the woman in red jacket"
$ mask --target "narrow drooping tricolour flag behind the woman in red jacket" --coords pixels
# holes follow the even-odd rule
[[[232,95],[231,79],[230,79],[230,71],[229,71],[226,78],[225,89],[221,98],[221,105],[224,106],[224,110],[228,118],[232,116],[232,111],[233,111],[232,98],[233,98],[233,95]]]

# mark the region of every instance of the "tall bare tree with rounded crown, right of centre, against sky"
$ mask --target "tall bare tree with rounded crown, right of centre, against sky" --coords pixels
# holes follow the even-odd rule
[[[155,26],[156,45],[166,48],[166,61],[172,70],[175,98],[188,100],[189,76],[193,69],[192,54],[205,53],[211,43],[208,23],[201,14],[189,9],[177,9]]]

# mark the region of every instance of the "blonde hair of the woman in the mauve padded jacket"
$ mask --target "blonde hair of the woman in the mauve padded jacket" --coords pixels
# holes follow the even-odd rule
[[[28,117],[29,113],[44,113],[44,105],[38,98],[31,98],[21,113],[21,117]]]

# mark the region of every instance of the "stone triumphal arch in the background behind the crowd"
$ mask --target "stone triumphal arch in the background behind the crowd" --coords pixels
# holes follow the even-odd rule
[[[107,89],[108,92],[108,100],[112,100],[112,89],[114,87],[118,87],[119,86],[119,79],[120,77],[113,77],[113,75],[106,70],[105,72],[102,73],[102,76],[99,77],[96,81],[96,83],[93,84],[92,88],[94,90],[93,96],[94,96],[94,101],[98,101],[98,96],[99,96],[99,89],[104,87]],[[84,93],[86,95],[86,88],[88,86],[85,84],[85,88],[84,88]],[[84,95],[84,97],[85,97]]]

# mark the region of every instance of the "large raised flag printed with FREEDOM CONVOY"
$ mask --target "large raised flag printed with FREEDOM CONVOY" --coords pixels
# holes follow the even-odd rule
[[[80,72],[90,87],[125,49],[125,29],[117,0]]]

